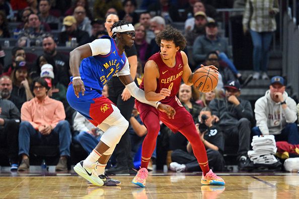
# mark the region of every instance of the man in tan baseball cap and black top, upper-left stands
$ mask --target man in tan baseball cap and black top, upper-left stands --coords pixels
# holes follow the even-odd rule
[[[89,34],[77,27],[77,21],[73,16],[66,16],[63,19],[63,26],[65,31],[59,33],[58,45],[65,46],[65,42],[70,41],[71,38],[77,38],[79,46],[89,43]]]

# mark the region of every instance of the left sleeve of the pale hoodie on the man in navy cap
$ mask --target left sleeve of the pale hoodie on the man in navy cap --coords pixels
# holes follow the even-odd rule
[[[264,105],[263,98],[259,98],[255,103],[254,113],[255,113],[256,126],[259,127],[263,135],[269,135],[269,129],[267,126],[266,107],[263,105]]]

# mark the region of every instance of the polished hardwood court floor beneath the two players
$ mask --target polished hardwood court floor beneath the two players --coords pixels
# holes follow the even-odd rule
[[[298,173],[219,173],[225,186],[201,185],[201,173],[150,173],[145,188],[132,175],[114,176],[117,187],[88,187],[72,172],[46,175],[0,173],[0,198],[299,198]]]

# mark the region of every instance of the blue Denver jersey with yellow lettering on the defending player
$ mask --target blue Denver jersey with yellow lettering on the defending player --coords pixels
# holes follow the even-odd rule
[[[85,87],[102,93],[104,85],[111,77],[119,72],[126,63],[126,56],[118,52],[115,40],[109,36],[101,39],[110,39],[111,50],[107,55],[96,55],[82,60],[79,71]],[[71,78],[72,81],[72,78]]]

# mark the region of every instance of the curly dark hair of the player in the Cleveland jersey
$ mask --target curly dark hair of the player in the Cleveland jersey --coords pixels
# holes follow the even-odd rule
[[[184,50],[187,43],[182,33],[173,27],[164,29],[157,35],[156,42],[159,46],[161,45],[161,40],[173,41],[176,47],[180,47],[180,50]]]

